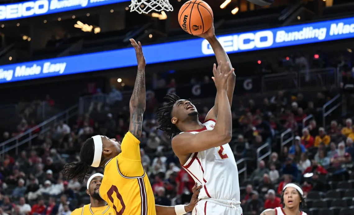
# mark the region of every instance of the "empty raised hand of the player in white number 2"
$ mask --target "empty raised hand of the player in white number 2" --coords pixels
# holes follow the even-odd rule
[[[214,64],[213,74],[214,77],[212,79],[215,82],[215,86],[217,90],[227,90],[228,88],[228,78],[234,72],[234,68],[229,70],[229,62],[226,62],[225,66],[222,65],[222,62],[219,61],[218,66]]]

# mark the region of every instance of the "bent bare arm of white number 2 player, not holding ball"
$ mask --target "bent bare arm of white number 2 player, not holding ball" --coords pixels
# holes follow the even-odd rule
[[[223,69],[221,69],[223,68]],[[217,88],[218,120],[213,130],[205,130],[196,134],[184,132],[173,137],[172,148],[177,156],[184,156],[197,151],[204,151],[228,143],[232,138],[232,117],[230,103],[227,97],[227,83],[234,69],[227,70],[219,62],[214,64],[213,80]]]

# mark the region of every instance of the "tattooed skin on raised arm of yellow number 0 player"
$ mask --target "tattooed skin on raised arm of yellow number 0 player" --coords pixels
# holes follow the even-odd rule
[[[137,139],[140,138],[143,124],[143,114],[146,106],[145,99],[145,70],[138,69],[135,85],[130,98],[129,131]]]

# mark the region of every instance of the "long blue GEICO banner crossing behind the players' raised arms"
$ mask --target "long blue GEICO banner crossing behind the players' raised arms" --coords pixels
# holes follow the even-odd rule
[[[222,35],[218,39],[227,53],[237,53],[353,37],[354,18],[346,18]],[[144,46],[143,50],[147,64],[213,55],[209,43],[202,38]],[[0,83],[136,65],[134,49],[125,48],[0,66]],[[247,81],[243,86],[247,89],[255,84]]]

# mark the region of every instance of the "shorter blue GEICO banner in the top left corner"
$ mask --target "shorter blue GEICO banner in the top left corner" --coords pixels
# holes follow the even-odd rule
[[[37,0],[0,5],[0,20],[21,19],[87,7],[115,4],[129,0]]]

